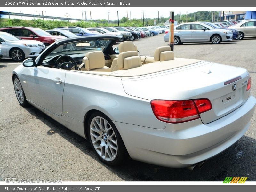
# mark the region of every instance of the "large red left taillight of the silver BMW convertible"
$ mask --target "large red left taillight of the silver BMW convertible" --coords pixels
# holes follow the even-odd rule
[[[200,118],[199,114],[212,109],[208,99],[196,100],[151,100],[157,119],[167,123],[182,123]]]

